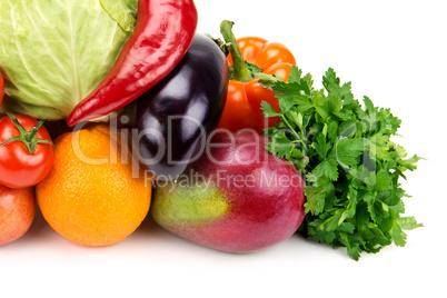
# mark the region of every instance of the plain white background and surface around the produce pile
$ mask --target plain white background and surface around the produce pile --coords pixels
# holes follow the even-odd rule
[[[364,95],[403,119],[396,142],[427,160],[409,172],[408,231],[358,262],[345,250],[294,236],[251,255],[215,251],[177,238],[151,220],[103,248],[64,240],[38,213],[20,240],[0,247],[1,297],[424,297],[445,295],[447,18],[445,1],[196,0],[198,32],[219,36],[224,19],[238,37],[288,46],[316,87],[332,67]],[[438,269],[438,270],[437,270]],[[439,297],[439,296],[438,296]]]

